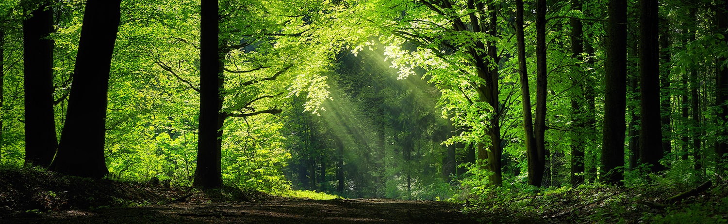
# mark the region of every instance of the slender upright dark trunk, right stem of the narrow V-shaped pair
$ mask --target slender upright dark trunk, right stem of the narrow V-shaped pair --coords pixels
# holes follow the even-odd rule
[[[534,173],[529,169],[529,183],[541,186],[546,165],[546,0],[536,1],[536,159]],[[529,164],[529,166],[531,166]]]

